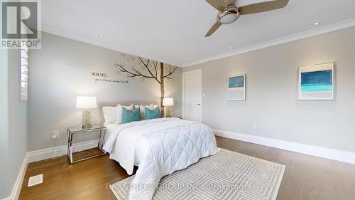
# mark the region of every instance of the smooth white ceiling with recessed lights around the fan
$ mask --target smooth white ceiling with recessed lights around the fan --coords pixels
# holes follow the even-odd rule
[[[237,3],[243,6],[258,1],[262,0]],[[354,0],[290,0],[284,9],[241,16],[204,38],[217,16],[217,10],[204,0],[45,0],[42,28],[48,33],[184,66],[349,19],[354,26],[354,8]],[[314,26],[315,22],[320,24]]]

